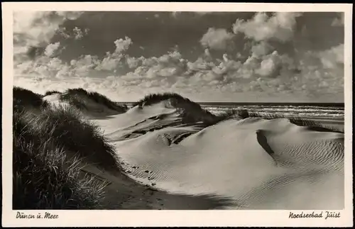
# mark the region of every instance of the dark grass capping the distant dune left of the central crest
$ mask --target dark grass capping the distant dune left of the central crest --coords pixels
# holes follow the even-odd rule
[[[112,111],[118,111],[120,113],[124,113],[127,110],[127,106],[121,106],[114,101],[111,101],[102,94],[92,91],[86,91],[82,88],[77,89],[67,89],[64,93],[60,94],[61,101],[67,101],[70,105],[75,106],[80,111],[87,110],[87,106],[85,105],[84,99],[91,99],[97,104],[102,104]]]

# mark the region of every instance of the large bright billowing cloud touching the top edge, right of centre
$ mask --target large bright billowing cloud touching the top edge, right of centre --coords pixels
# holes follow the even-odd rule
[[[277,12],[269,17],[266,13],[256,13],[249,21],[236,19],[233,24],[234,33],[244,33],[253,40],[279,40],[285,42],[293,36],[296,18],[301,13]]]

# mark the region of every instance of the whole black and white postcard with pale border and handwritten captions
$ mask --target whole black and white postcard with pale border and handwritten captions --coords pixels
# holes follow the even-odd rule
[[[344,10],[106,6],[11,11],[9,217],[278,210],[322,225],[344,217],[352,151]]]

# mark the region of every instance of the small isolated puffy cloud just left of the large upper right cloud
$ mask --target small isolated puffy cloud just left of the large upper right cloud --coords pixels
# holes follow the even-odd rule
[[[214,50],[226,50],[229,45],[232,45],[230,43],[232,38],[234,38],[233,33],[229,33],[224,28],[209,28],[202,36],[200,43]]]

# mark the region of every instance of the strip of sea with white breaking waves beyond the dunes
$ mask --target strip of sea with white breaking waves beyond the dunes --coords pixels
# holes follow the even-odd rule
[[[231,108],[246,109],[261,115],[275,114],[285,117],[306,118],[311,120],[332,120],[344,122],[344,103],[338,104],[280,104],[280,103],[226,103],[226,102],[203,102],[198,103],[202,108],[211,113],[222,113]],[[129,104],[127,104],[129,105]]]

